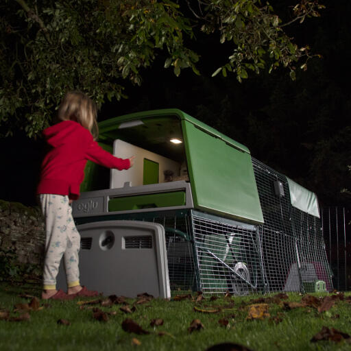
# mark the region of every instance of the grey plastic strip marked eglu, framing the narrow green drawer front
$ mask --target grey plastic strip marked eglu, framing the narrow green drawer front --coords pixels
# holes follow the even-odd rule
[[[141,210],[108,211],[108,200],[110,197],[123,197],[128,195],[147,195],[153,193],[166,193],[169,191],[185,191],[185,206],[143,208]],[[73,201],[73,217],[90,217],[92,215],[113,215],[114,213],[138,213],[152,212],[154,210],[178,210],[182,208],[193,208],[193,197],[191,196],[190,183],[184,180],[162,184],[149,184],[143,186],[125,186],[117,189],[105,189],[87,191],[80,198]]]

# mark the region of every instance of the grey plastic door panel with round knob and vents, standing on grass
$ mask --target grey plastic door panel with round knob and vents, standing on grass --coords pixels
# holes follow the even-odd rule
[[[104,295],[149,293],[170,298],[165,228],[145,221],[101,221],[77,226],[80,282]],[[90,240],[91,239],[91,240]],[[58,289],[66,289],[63,265]]]

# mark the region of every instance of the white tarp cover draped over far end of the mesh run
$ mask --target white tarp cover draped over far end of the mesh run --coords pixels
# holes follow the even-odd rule
[[[309,215],[319,218],[317,196],[312,191],[287,178],[290,191],[291,204]]]

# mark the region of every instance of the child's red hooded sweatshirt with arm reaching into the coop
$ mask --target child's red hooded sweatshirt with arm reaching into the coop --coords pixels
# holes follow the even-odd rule
[[[90,132],[75,121],[62,121],[43,131],[51,150],[43,160],[36,193],[80,196],[84,167],[90,160],[108,168],[130,168],[130,160],[102,149]]]

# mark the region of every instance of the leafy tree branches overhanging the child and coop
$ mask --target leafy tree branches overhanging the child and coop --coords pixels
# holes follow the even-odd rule
[[[295,64],[312,56],[284,31],[285,25],[319,16],[317,0],[300,0],[282,23],[260,0],[5,0],[0,5],[1,135],[23,129],[35,136],[51,120],[69,89],[86,91],[99,105],[121,99],[127,81],[141,84],[143,69],[160,53],[175,75],[199,74],[191,49],[197,34],[217,35],[231,55],[213,75]],[[214,67],[214,70],[216,68]]]

